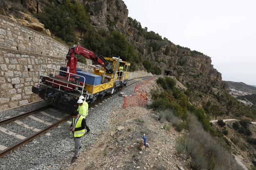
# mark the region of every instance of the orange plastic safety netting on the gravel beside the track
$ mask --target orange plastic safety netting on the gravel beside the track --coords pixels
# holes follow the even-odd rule
[[[136,84],[134,88],[135,95],[128,95],[123,97],[123,107],[145,106],[147,103],[148,93],[143,90],[143,87],[152,81],[155,77]]]

